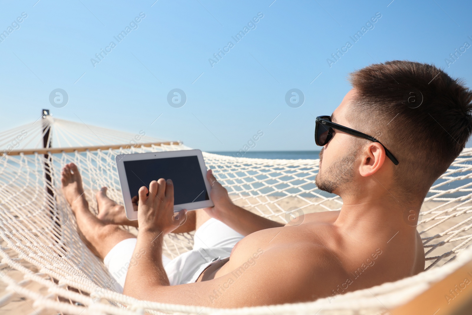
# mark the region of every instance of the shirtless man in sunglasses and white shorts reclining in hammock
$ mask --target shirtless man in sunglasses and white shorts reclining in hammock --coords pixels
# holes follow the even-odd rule
[[[172,181],[141,187],[135,238],[116,225],[133,223],[105,189],[97,194],[98,218],[90,213],[79,171],[66,165],[63,191],[78,228],[124,283],[124,294],[171,304],[270,305],[334,297],[423,271],[418,214],[471,135],[472,93],[442,70],[409,61],[362,68],[350,82],[333,114],[316,124],[323,145],[316,184],[341,196],[343,206],[306,214],[300,225],[234,205],[210,170],[215,206],[189,212],[177,229]],[[193,229],[193,250],[171,262],[162,257],[165,234]],[[130,266],[126,281],[123,263]]]

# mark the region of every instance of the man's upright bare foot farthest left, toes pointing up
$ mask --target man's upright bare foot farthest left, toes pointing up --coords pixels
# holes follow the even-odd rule
[[[76,204],[87,202],[82,187],[82,177],[76,164],[68,163],[61,172],[62,192],[70,204],[72,211],[75,212]]]

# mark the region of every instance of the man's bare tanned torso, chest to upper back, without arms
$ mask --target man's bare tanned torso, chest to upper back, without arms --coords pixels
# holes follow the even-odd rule
[[[303,265],[289,271],[293,272],[290,276],[294,283],[274,283],[281,286],[281,291],[289,285],[294,301],[369,288],[424,270],[424,250],[417,232],[396,235],[392,229],[390,233],[373,235],[368,231],[339,230],[333,224],[338,214],[338,211],[306,214],[298,226],[287,224],[254,232],[236,244],[228,259],[202,272],[198,281],[230,272],[242,275],[254,264],[263,264],[261,257],[267,251],[280,253],[277,264],[284,272],[290,270],[287,265]],[[272,274],[277,281],[278,271]]]

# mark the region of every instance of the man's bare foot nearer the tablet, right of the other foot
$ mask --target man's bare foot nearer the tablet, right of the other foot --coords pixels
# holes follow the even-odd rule
[[[107,224],[138,226],[138,221],[130,221],[126,218],[125,207],[117,204],[107,196],[107,187],[101,187],[97,193],[98,215],[97,218]]]

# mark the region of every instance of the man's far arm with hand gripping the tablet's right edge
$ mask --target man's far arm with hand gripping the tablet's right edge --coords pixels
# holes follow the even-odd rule
[[[211,200],[215,204],[214,207],[205,208],[211,217],[225,223],[244,236],[258,230],[284,226],[282,223],[263,218],[233,204],[228,196],[228,191],[216,180],[212,170],[208,170],[207,179],[211,184]]]

